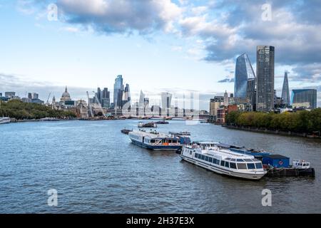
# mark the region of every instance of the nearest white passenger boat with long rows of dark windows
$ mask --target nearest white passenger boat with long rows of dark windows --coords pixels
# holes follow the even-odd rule
[[[231,177],[260,180],[266,174],[262,162],[254,156],[219,148],[218,144],[218,142],[198,142],[185,145],[180,157],[207,170]]]

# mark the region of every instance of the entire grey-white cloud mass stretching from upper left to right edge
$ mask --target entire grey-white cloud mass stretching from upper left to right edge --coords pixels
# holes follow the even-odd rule
[[[19,0],[22,6],[31,2]],[[271,5],[271,21],[263,20],[263,4]],[[174,33],[202,43],[204,61],[235,61],[248,53],[254,62],[256,46],[275,46],[278,66],[291,66],[297,81],[320,80],[321,1],[258,0],[56,0],[61,18],[98,33],[141,35]],[[26,7],[28,8],[28,7]],[[194,52],[195,48],[187,48]]]

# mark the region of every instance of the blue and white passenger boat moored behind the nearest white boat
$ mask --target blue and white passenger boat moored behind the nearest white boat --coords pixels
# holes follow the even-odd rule
[[[128,136],[133,144],[151,150],[178,150],[182,145],[190,143],[189,137],[166,135],[156,131],[147,133],[145,130],[133,130]]]

